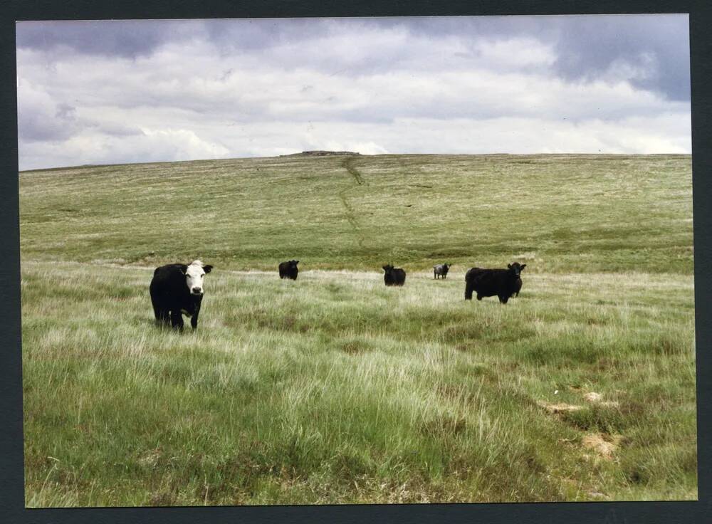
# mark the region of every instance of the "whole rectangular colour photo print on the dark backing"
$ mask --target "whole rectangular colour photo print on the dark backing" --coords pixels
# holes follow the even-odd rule
[[[16,60],[27,507],[697,500],[687,15]]]

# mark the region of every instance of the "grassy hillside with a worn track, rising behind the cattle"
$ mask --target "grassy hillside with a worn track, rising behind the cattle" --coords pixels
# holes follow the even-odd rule
[[[33,260],[692,273],[684,155],[384,155],[26,172]],[[464,272],[464,269],[463,269]]]

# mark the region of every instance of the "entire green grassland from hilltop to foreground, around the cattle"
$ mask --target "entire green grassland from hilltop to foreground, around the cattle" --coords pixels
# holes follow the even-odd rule
[[[135,164],[20,191],[27,505],[697,497],[689,156]],[[152,268],[197,257],[198,331],[158,330]],[[518,298],[463,299],[466,268],[514,260]]]

